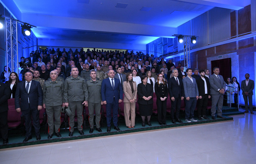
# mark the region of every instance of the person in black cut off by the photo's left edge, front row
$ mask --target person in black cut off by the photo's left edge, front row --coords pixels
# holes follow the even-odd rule
[[[8,141],[8,102],[11,97],[12,91],[8,84],[0,82],[0,134],[3,138],[3,144],[7,144]]]

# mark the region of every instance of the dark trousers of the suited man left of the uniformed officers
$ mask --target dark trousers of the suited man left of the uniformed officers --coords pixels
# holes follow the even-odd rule
[[[35,135],[40,136],[40,122],[39,122],[39,110],[30,108],[28,105],[28,109],[21,109],[21,113],[25,120],[25,130],[26,130],[26,137],[30,137],[32,135],[31,129],[31,116],[33,120],[33,126],[35,128]]]

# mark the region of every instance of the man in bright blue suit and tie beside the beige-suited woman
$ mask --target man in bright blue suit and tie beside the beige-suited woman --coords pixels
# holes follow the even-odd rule
[[[111,118],[113,113],[114,129],[119,131],[118,122],[118,103],[122,102],[123,89],[119,79],[114,78],[115,71],[113,69],[108,71],[108,78],[103,79],[101,83],[101,97],[102,103],[106,104],[107,110],[107,132],[110,132]]]

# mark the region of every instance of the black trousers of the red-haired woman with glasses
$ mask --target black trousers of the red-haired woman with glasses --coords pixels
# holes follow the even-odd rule
[[[166,103],[167,103],[167,99],[165,99],[164,101],[161,101],[160,98],[156,98],[158,122],[160,124],[166,123]]]

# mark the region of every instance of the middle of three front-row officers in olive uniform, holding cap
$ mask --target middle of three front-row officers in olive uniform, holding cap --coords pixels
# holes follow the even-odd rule
[[[77,129],[81,135],[84,135],[82,131],[83,124],[83,105],[88,105],[85,101],[85,97],[88,97],[88,91],[85,84],[85,79],[78,76],[78,68],[73,67],[71,69],[71,76],[65,80],[64,85],[64,102],[66,107],[70,107],[72,114],[69,116],[70,133],[69,136],[73,136],[74,133],[74,120],[75,112],[77,113]]]

